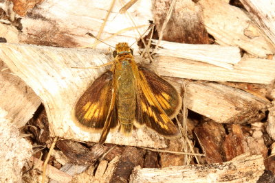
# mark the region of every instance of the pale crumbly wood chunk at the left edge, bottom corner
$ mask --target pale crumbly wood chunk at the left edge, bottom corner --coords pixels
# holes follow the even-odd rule
[[[0,108],[0,182],[21,182],[21,169],[32,156],[32,145],[7,116],[8,112]]]

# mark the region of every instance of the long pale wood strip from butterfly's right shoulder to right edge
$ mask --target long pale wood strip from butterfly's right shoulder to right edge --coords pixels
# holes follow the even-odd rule
[[[272,84],[275,78],[275,62],[267,59],[243,58],[233,70],[228,70],[192,60],[158,56],[155,66],[160,75],[192,80]]]

